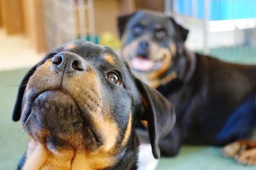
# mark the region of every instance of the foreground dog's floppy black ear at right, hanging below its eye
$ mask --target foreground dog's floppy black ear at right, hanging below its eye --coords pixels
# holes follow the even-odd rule
[[[145,114],[143,119],[148,122],[148,134],[152,152],[156,159],[160,156],[159,141],[170,132],[175,123],[175,113],[172,104],[157,90],[136,78],[140,90]]]

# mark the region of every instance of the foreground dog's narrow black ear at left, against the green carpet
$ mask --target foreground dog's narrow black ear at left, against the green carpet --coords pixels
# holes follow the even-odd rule
[[[13,115],[12,115],[12,120],[15,121],[15,122],[20,120],[22,98],[23,98],[28,80],[29,80],[30,76],[32,76],[33,73],[35,72],[36,66],[32,67],[28,71],[28,73],[26,74],[26,76],[24,76],[23,80],[20,83],[19,92],[18,92],[18,96],[17,96],[17,99],[16,99],[16,103],[15,103],[15,106],[14,106],[14,109],[13,109]]]

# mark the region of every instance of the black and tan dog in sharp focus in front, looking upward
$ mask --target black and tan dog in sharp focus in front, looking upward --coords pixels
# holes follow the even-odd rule
[[[135,128],[147,120],[154,157],[175,122],[172,105],[110,49],[67,43],[20,85],[13,120],[29,144],[18,169],[136,169]]]

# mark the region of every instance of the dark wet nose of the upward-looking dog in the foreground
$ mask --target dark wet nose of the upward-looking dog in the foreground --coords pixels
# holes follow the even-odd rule
[[[83,58],[76,53],[60,52],[52,57],[52,63],[55,64],[60,71],[67,73],[86,70]]]

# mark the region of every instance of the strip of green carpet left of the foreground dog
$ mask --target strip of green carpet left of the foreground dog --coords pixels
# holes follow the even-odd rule
[[[0,169],[15,169],[26,148],[27,136],[20,122],[12,122],[19,83],[28,69],[0,72]]]

